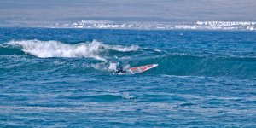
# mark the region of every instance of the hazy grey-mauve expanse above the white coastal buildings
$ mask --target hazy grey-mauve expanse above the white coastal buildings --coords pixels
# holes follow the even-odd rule
[[[1,0],[0,20],[256,20],[256,0]],[[1,24],[1,22],[0,22]]]

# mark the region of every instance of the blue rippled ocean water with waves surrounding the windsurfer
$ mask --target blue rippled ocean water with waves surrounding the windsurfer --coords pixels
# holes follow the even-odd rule
[[[255,56],[247,31],[0,28],[0,126],[256,127]]]

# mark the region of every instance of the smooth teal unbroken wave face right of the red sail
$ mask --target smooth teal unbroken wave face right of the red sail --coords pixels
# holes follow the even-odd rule
[[[134,63],[137,63],[133,61]],[[256,58],[253,57],[201,57],[194,55],[161,55],[140,62],[158,63],[152,69],[156,74],[180,76],[236,76],[256,77]]]

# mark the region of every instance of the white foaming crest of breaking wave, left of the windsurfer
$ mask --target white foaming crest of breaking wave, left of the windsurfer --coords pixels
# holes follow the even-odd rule
[[[40,41],[40,40],[24,40],[24,41],[10,41],[12,46],[21,47],[21,50],[29,55],[34,55],[40,58],[49,57],[84,57],[94,58],[100,61],[107,61],[106,56],[102,55],[109,50],[119,52],[136,51],[138,46],[121,46],[102,44],[99,41],[92,41],[91,43],[80,44],[64,44],[59,41]]]

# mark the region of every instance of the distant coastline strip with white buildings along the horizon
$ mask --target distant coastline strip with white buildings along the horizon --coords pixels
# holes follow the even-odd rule
[[[1,27],[44,27],[44,28],[80,28],[80,29],[141,29],[141,30],[256,30],[256,21],[1,21]]]

